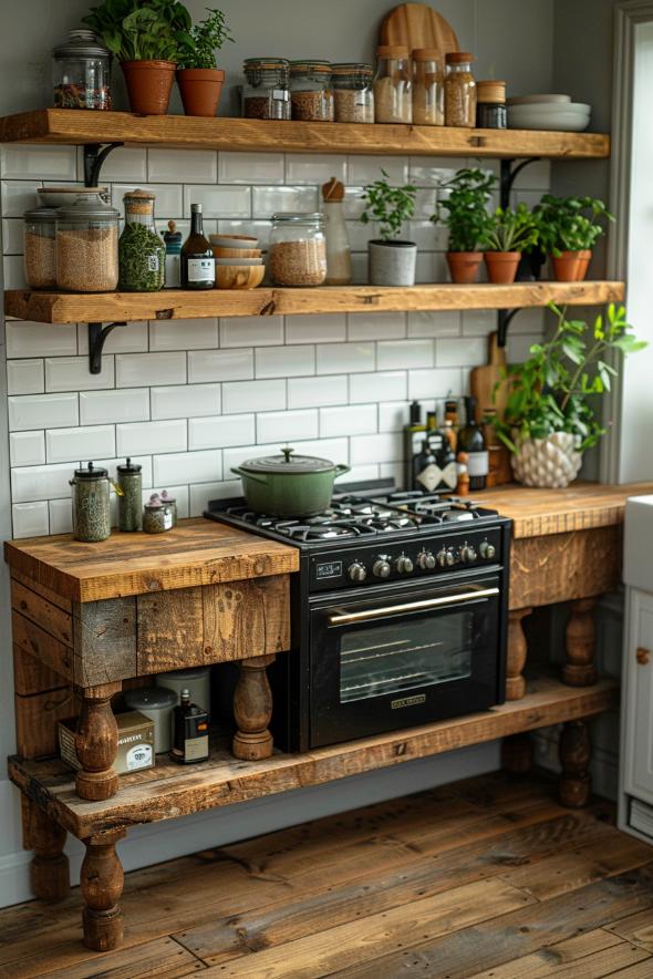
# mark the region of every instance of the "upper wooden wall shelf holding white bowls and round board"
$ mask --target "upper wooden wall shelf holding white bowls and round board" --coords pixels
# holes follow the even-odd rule
[[[139,116],[73,109],[39,109],[3,116],[0,142],[497,158],[597,159],[610,155],[610,137],[600,133]]]

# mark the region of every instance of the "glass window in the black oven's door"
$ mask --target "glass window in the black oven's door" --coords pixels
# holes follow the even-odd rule
[[[471,610],[352,629],[340,640],[340,702],[466,679],[474,642]]]

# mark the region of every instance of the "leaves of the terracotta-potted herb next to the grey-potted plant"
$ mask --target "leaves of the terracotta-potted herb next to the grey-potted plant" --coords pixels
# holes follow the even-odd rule
[[[486,243],[489,216],[487,203],[496,186],[494,174],[481,169],[459,169],[440,190],[448,192],[431,220],[444,221],[449,229],[449,251],[476,251]]]

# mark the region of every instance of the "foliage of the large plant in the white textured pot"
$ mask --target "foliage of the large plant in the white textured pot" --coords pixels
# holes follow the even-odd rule
[[[605,434],[590,399],[610,390],[616,371],[608,363],[610,351],[623,354],[643,350],[625,319],[623,306],[608,307],[593,327],[584,320],[568,320],[564,309],[549,303],[558,318],[553,336],[533,343],[530,358],[507,368],[508,401],[502,419],[493,419],[498,437],[511,452],[525,439],[546,439],[553,432],[577,436],[579,451],[595,445]],[[501,383],[501,382],[500,382]]]

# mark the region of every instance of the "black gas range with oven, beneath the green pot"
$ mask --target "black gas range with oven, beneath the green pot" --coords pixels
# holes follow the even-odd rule
[[[287,751],[484,710],[504,701],[510,521],[392,481],[350,484],[314,517],[205,516],[298,547],[292,650],[270,668]]]

